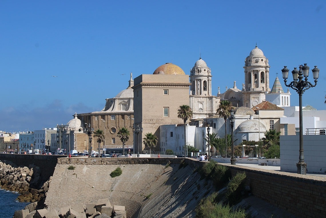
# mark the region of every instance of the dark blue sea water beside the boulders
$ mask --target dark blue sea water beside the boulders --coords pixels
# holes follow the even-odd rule
[[[18,193],[0,189],[0,218],[12,218],[16,210],[22,210],[29,203],[18,202]]]

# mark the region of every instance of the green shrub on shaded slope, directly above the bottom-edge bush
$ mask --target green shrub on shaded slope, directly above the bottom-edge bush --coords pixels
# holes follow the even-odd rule
[[[237,173],[227,185],[226,197],[230,205],[236,204],[243,197],[241,192],[244,191],[245,177],[245,172]]]

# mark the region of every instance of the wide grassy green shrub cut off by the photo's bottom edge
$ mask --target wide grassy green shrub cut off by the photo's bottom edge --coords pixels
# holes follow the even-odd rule
[[[232,210],[229,205],[223,205],[215,201],[218,193],[214,192],[207,198],[202,199],[195,209],[196,217],[205,218],[245,218],[246,213],[244,209]]]

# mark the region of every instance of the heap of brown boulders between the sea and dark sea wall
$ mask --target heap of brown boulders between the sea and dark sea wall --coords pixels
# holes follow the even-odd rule
[[[49,188],[51,178],[42,184],[38,166],[17,166],[9,161],[0,162],[1,188],[18,192],[20,202],[41,201]],[[42,184],[42,185],[41,185]]]

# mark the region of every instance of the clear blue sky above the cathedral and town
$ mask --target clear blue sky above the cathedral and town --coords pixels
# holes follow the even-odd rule
[[[100,111],[128,86],[130,72],[152,74],[172,62],[189,75],[200,52],[214,95],[234,80],[241,88],[256,43],[269,59],[270,87],[276,73],[283,84],[284,65],[318,65],[303,105],[326,109],[322,0],[1,1],[0,20],[2,131],[52,128],[75,112]]]

